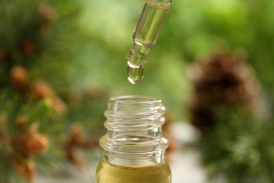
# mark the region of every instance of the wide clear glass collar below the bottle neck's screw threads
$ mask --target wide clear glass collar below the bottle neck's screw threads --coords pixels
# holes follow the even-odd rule
[[[148,167],[165,163],[168,140],[165,137],[153,140],[150,137],[139,137],[140,135],[123,132],[105,134],[100,139],[100,146],[107,163],[126,167]]]

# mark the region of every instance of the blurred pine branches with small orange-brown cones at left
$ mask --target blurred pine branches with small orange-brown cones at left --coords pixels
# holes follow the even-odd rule
[[[84,39],[77,31],[80,8],[74,0],[0,1],[0,182],[68,172],[70,125],[81,122],[95,140],[93,129],[102,131],[106,95],[76,106],[70,101],[87,87],[74,75]]]

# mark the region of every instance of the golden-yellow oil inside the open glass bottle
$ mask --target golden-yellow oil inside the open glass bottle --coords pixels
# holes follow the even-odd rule
[[[97,169],[97,183],[170,183],[169,165],[150,166],[145,168],[129,168],[110,165],[102,161]]]

